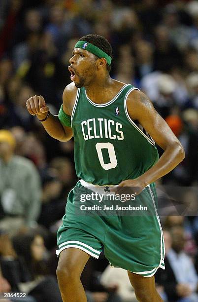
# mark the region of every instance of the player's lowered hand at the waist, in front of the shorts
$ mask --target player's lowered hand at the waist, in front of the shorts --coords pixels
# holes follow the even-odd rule
[[[115,194],[134,194],[135,196],[141,193],[145,185],[138,179],[129,179],[121,182],[114,188]]]

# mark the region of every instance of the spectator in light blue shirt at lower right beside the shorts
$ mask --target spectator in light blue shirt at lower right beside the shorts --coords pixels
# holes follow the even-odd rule
[[[173,227],[165,231],[165,271],[156,274],[156,282],[162,285],[169,302],[198,301],[198,275],[189,256],[184,253],[184,229]]]

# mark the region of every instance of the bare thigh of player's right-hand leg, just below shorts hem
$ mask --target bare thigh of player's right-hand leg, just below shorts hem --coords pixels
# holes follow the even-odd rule
[[[128,271],[129,279],[135,292],[144,291],[152,293],[155,291],[155,277],[143,277]]]

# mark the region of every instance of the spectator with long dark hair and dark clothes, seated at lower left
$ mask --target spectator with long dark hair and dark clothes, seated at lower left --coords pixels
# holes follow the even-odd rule
[[[28,292],[36,302],[62,302],[57,280],[50,274],[46,260],[43,237],[36,231],[13,238],[17,254],[25,260],[31,282],[21,284],[22,292]]]

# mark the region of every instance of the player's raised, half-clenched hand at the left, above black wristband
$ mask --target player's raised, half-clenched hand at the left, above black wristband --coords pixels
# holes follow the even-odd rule
[[[28,112],[32,115],[46,115],[49,108],[46,106],[45,100],[41,95],[34,95],[32,98],[28,99],[26,102],[26,107]]]

